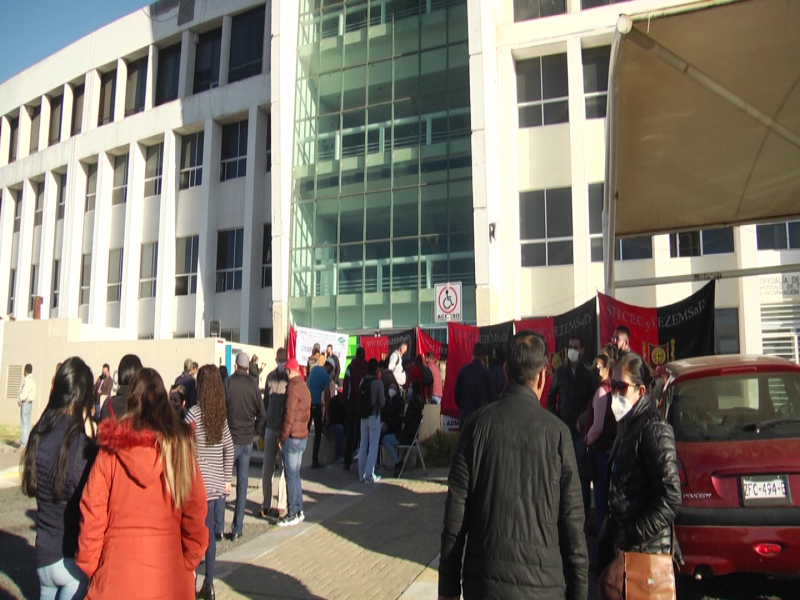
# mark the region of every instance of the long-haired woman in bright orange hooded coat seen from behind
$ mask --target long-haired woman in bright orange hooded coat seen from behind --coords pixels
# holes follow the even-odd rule
[[[206,493],[194,434],[156,371],[134,376],[125,416],[104,421],[97,442],[76,557],[92,580],[87,600],[194,600]]]

